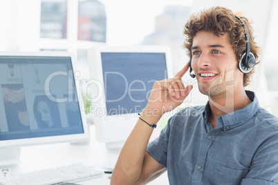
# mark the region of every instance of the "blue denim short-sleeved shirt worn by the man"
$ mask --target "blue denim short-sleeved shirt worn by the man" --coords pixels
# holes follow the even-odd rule
[[[252,103],[209,123],[210,104],[171,117],[147,152],[169,184],[278,184],[278,119]]]

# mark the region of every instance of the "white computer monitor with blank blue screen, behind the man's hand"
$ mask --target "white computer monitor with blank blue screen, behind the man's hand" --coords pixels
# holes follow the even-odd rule
[[[147,105],[154,82],[172,77],[170,50],[96,46],[89,48],[88,59],[87,89],[97,141],[105,142],[108,149],[121,148]]]

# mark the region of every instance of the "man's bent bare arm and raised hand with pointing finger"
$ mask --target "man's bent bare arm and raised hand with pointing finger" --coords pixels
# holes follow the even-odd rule
[[[149,124],[157,124],[162,115],[174,110],[192,90],[185,87],[181,77],[188,70],[187,64],[173,79],[156,81],[149,102],[140,118]],[[146,153],[147,144],[154,128],[138,119],[127,138],[111,177],[111,184],[145,184],[165,171],[165,166]]]

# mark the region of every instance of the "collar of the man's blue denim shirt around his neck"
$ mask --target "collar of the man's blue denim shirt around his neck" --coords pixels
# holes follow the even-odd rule
[[[257,99],[257,96],[252,91],[245,90],[245,92],[252,102],[242,109],[235,110],[232,113],[217,117],[217,128],[223,127],[224,130],[229,130],[230,128],[244,124],[251,117],[253,117],[255,113],[257,113],[257,111],[259,110],[259,101]],[[210,112],[210,103],[209,101],[207,101],[207,104],[205,105],[203,110],[203,118],[205,119],[206,124],[209,123]]]

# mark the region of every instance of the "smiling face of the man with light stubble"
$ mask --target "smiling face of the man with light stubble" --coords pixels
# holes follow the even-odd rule
[[[228,86],[243,86],[243,73],[228,41],[228,34],[217,37],[212,32],[200,31],[192,44],[192,68],[201,93],[209,97],[226,95]]]

